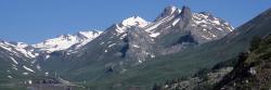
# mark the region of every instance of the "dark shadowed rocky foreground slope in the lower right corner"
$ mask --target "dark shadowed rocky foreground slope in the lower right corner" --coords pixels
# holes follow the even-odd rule
[[[250,52],[238,60],[238,64],[228,74],[215,90],[268,90],[271,87],[271,35],[255,41]]]

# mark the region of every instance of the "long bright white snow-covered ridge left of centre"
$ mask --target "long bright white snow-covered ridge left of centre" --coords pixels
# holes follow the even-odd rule
[[[102,31],[90,30],[79,31],[76,35],[61,35],[60,37],[48,39],[43,42],[33,44],[33,47],[37,48],[39,51],[46,51],[50,53],[53,51],[68,49],[76,43],[86,43],[85,41],[91,41],[101,34]]]

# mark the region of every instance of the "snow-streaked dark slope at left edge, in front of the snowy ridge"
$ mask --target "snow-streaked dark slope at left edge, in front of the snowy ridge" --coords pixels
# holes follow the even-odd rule
[[[31,51],[31,46],[23,42],[0,41],[1,87],[30,81],[28,78],[42,73],[36,60],[31,60],[38,54]]]

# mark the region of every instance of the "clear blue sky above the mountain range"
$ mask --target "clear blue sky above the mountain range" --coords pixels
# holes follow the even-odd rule
[[[153,21],[167,5],[208,11],[236,27],[271,8],[271,0],[0,0],[0,38],[36,43],[62,34],[103,30],[132,15]]]

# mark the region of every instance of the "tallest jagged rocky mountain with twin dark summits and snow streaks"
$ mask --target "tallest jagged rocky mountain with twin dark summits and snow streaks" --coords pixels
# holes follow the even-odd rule
[[[233,27],[207,12],[192,13],[188,7],[182,10],[167,7],[145,30],[163,48],[160,54],[170,54],[189,46],[220,39]]]

